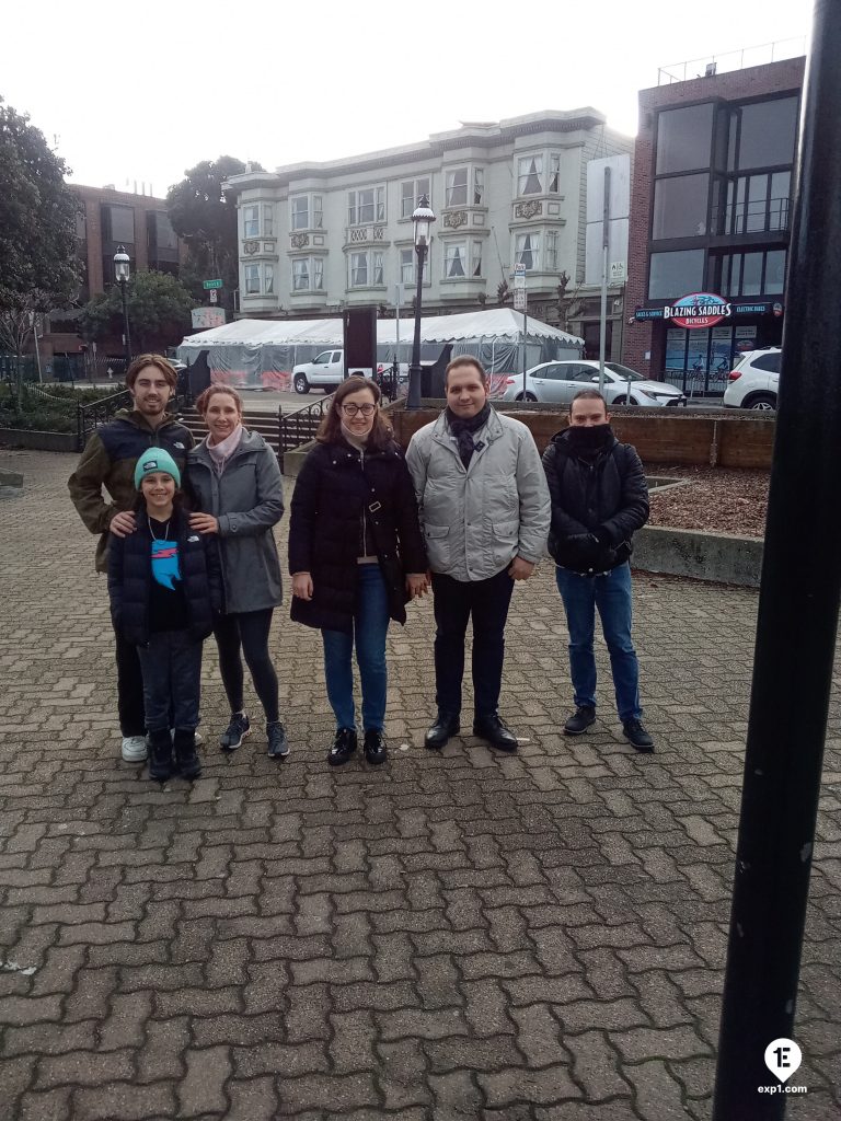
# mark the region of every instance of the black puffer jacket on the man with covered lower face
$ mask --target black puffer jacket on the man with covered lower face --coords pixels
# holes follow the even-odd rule
[[[645,472],[636,448],[616,436],[590,463],[573,454],[569,433],[556,433],[543,453],[552,499],[548,550],[563,568],[608,572],[628,559],[632,534],[648,521]]]

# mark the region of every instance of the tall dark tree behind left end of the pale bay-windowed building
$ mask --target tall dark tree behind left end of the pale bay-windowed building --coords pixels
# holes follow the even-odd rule
[[[259,164],[251,169],[262,172]],[[222,184],[247,169],[233,156],[205,159],[191,167],[181,183],[166,196],[173,229],[187,244],[188,257],[182,269],[188,289],[203,299],[202,280],[221,278],[222,304],[233,308],[233,291],[239,286],[239,244],[237,207],[222,193]]]

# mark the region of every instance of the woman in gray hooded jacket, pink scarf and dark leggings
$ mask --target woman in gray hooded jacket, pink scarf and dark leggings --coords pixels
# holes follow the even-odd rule
[[[191,515],[190,526],[218,535],[224,586],[224,614],[213,633],[231,721],[220,743],[233,751],[251,730],[242,694],[244,655],[266,713],[268,753],[285,759],[289,745],[269,656],[271,614],[281,599],[272,534],[284,512],[280,467],[262,436],[242,427],[242,398],[234,389],[210,386],[196,408],[209,435],[187,458],[192,504],[202,511]]]

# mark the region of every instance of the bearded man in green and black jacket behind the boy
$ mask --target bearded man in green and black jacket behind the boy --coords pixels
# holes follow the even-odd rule
[[[109,529],[114,518],[131,510],[137,499],[135,466],[148,447],[165,447],[183,472],[193,446],[191,433],[166,411],[175,392],[175,368],[160,354],[140,354],[129,365],[126,385],[131,408],[120,409],[98,428],[85,445],[67,481],[71,499],[92,534],[100,534],[96,572],[108,572]],[[105,489],[110,501],[105,500]],[[146,759],[144,686],[137,647],[117,639],[117,697],[122,732],[122,758]]]

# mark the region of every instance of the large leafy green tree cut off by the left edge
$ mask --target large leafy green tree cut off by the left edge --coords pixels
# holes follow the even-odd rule
[[[36,316],[78,288],[76,215],[67,166],[26,114],[0,98],[0,346],[21,354]]]

